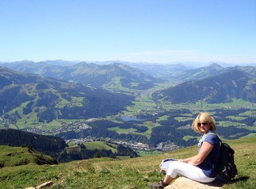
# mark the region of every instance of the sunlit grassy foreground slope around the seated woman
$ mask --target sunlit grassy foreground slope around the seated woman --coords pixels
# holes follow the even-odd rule
[[[223,188],[255,188],[256,138],[244,137],[227,141],[236,151],[238,166],[236,182]],[[53,181],[51,188],[148,188],[147,184],[159,181],[159,163],[162,159],[190,157],[197,146],[183,148],[162,155],[126,160],[94,158],[59,165],[21,165],[0,169],[0,188],[26,188]],[[0,152],[1,153],[1,152]],[[79,165],[78,165],[79,164]]]

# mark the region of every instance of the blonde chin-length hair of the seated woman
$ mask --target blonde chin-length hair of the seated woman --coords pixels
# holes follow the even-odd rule
[[[192,129],[194,129],[196,132],[202,133],[201,130],[199,129],[199,126],[197,125],[197,123],[199,123],[199,120],[202,120],[205,123],[209,123],[210,124],[210,129],[215,131],[216,130],[216,126],[215,126],[215,120],[212,116],[210,116],[209,113],[206,112],[201,112],[199,113],[199,115],[197,115],[196,119],[194,120],[194,122],[192,123]]]

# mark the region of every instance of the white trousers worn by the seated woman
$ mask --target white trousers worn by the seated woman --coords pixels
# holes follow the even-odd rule
[[[215,178],[208,178],[199,167],[179,161],[170,162],[167,174],[171,178],[180,175],[201,183],[211,183],[215,180]]]

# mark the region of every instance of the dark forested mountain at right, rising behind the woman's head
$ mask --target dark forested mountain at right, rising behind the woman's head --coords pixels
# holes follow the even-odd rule
[[[232,102],[232,99],[256,102],[256,78],[234,70],[199,81],[188,81],[153,94],[155,100],[164,99],[174,104],[206,101]]]

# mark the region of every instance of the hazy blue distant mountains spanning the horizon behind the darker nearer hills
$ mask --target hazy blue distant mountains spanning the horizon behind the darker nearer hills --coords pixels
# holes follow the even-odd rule
[[[165,81],[178,84],[185,81],[203,80],[211,76],[213,76],[211,80],[214,80],[214,76],[222,73],[227,74],[234,70],[243,72],[252,80],[256,76],[255,67],[253,66],[222,67],[220,64],[211,63],[208,66],[192,67],[184,64],[120,62],[122,61],[96,62],[96,64],[63,60],[46,60],[45,62],[24,60],[1,63],[0,66],[9,67],[15,71],[52,77],[57,80],[74,81],[109,89],[122,86],[124,88],[145,90]]]

